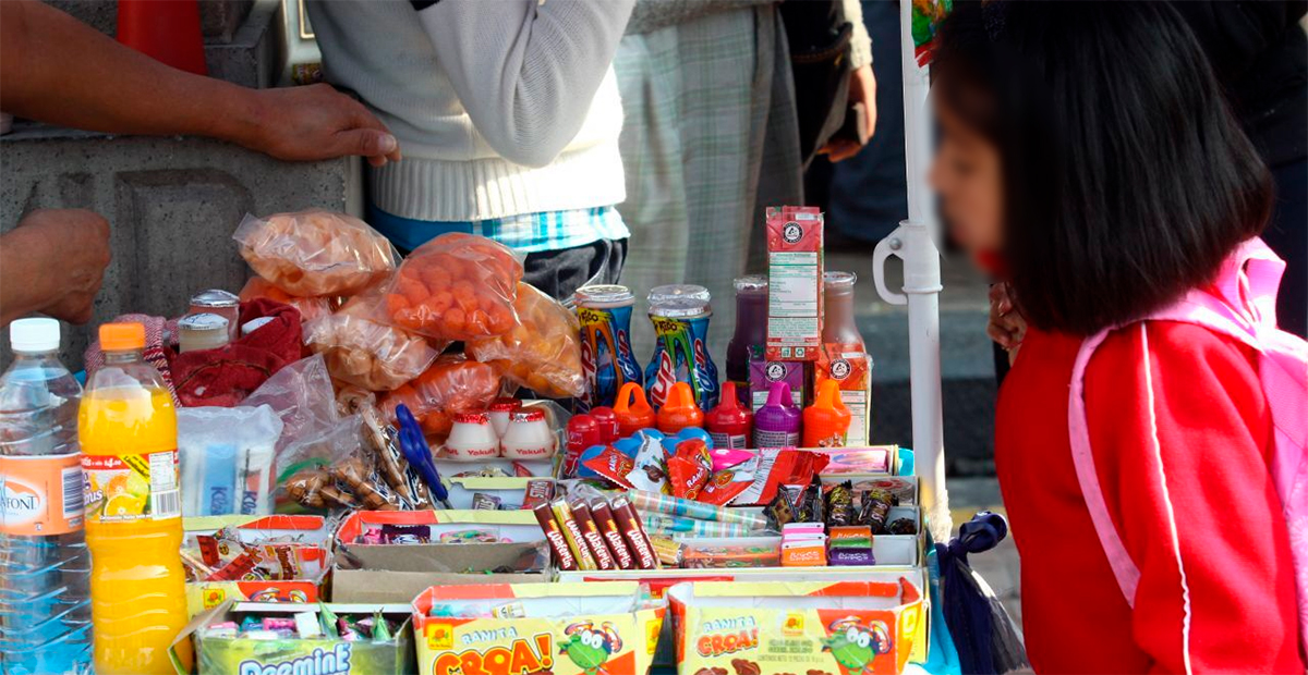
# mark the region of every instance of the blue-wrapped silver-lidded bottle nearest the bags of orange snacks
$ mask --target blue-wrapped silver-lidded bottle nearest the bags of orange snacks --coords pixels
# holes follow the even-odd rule
[[[641,366],[632,354],[632,306],[636,296],[627,286],[582,286],[574,295],[581,324],[581,366],[586,392],[574,410],[611,406],[627,383],[644,384]]]

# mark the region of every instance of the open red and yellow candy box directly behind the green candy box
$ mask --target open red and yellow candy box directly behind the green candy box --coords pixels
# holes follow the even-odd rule
[[[188,580],[186,604],[190,616],[212,610],[228,601],[254,602],[317,602],[323,577],[331,568],[331,530],[322,516],[205,516],[183,518],[183,551],[191,551],[198,537],[213,535],[228,527],[242,543],[296,542],[311,544],[301,550],[302,576],[300,578],[266,580],[235,578],[226,581]],[[186,552],[195,559],[194,551]],[[203,564],[203,560],[194,560]],[[190,565],[191,561],[187,561]],[[192,571],[194,573],[194,571]]]

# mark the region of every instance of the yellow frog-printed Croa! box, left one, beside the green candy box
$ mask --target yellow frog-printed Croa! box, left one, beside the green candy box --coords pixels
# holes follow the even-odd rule
[[[663,611],[634,582],[430,588],[413,602],[419,672],[645,675]]]

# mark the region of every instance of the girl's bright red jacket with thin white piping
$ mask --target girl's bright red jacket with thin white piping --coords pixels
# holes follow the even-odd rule
[[[1304,672],[1254,354],[1201,326],[1151,321],[1114,332],[1090,362],[1099,482],[1141,569],[1133,610],[1073,466],[1067,386],[1079,346],[1028,330],[995,414],[1035,670]]]

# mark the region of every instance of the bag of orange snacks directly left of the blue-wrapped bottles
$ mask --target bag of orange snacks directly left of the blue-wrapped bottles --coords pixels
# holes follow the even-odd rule
[[[468,355],[494,363],[505,377],[540,396],[581,396],[586,376],[577,315],[527,283],[518,283],[513,307],[518,322],[502,336],[468,341]]]

